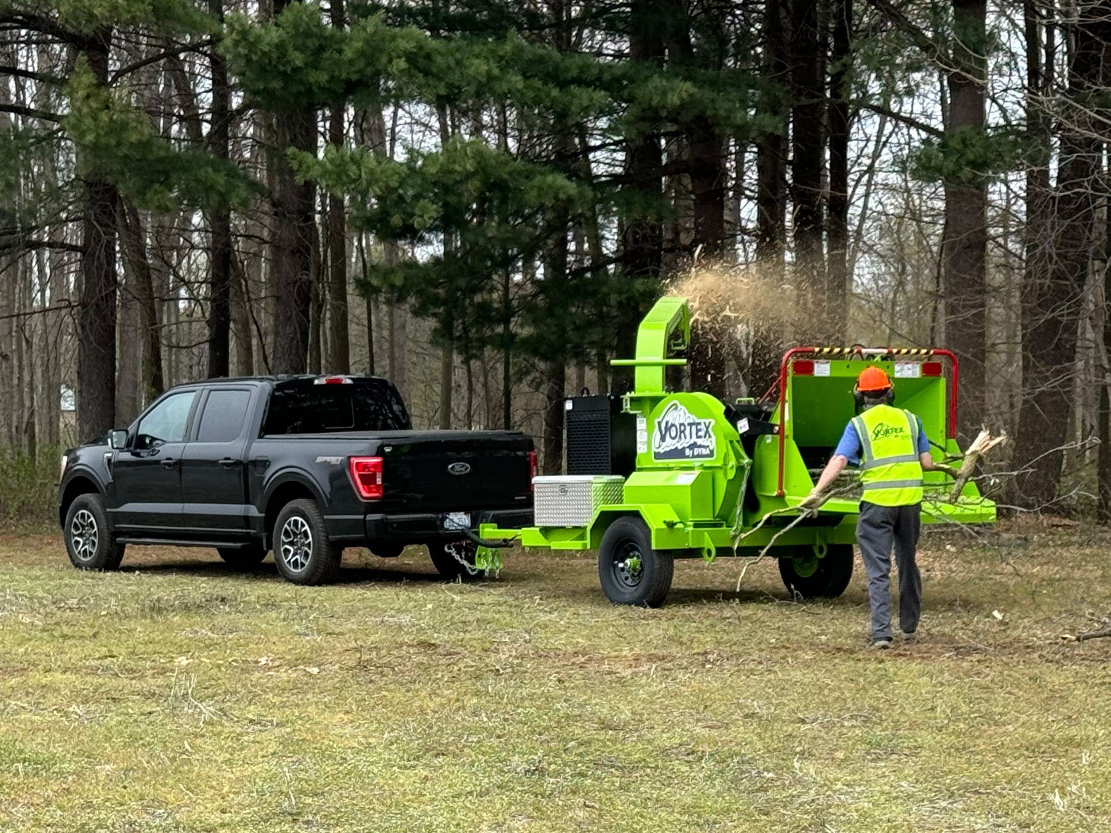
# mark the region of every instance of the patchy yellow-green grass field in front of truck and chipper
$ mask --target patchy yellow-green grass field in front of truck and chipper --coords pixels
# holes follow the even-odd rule
[[[681,562],[660,610],[585,558],[446,585],[0,536],[0,830],[1111,830],[1111,539],[929,536],[924,638],[864,651],[772,562]],[[1001,616],[1001,619],[999,618]]]

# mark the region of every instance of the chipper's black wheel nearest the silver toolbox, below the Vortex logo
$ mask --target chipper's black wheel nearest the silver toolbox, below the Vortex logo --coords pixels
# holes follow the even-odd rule
[[[605,530],[598,578],[614,604],[659,608],[671,590],[674,569],[671,551],[652,549],[652,535],[639,518],[619,518]]]

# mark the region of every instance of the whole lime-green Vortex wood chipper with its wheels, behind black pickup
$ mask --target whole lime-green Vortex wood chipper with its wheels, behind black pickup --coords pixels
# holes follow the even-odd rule
[[[793,348],[764,402],[727,403],[668,390],[668,368],[685,363],[689,342],[687,300],[658,301],[640,324],[637,358],[613,362],[633,368],[632,392],[567,400],[568,474],[533,481],[536,525],[483,525],[480,534],[524,548],[598,550],[602,590],[618,604],[661,604],[674,559],[755,556],[771,542],[768,555],[779,559],[792,592],[840,595],[857,540],[859,492],[851,481],[834,485],[838,496],[817,516],[783,528],[798,519],[793,508],[854,415],[855,378],[869,365],[883,369],[894,381],[895,404],[922,419],[941,462],[961,455],[953,439],[955,357],[930,349]],[[994,503],[974,483],[955,502],[952,485],[941,472],[925,473],[923,522],[995,520]]]

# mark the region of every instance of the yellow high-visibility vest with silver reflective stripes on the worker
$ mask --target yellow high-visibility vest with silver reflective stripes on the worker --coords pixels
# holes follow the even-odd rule
[[[880,506],[922,502],[918,418],[891,405],[872,405],[852,420],[860,435],[862,500]]]

